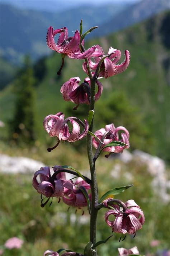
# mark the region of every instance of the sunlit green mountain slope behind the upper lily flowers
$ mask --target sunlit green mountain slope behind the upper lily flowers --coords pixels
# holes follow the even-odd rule
[[[90,45],[100,44],[103,46],[105,53],[107,53],[110,46],[120,49],[122,55],[124,49],[128,49],[131,53],[131,63],[125,72],[112,78],[100,80],[104,91],[100,100],[96,102],[95,129],[111,122],[114,122],[116,126],[120,123],[124,126],[128,125],[132,144],[137,141],[136,147],[170,161],[169,21],[170,12],[165,12],[121,32],[101,37],[97,41],[91,40],[85,47],[89,48]],[[70,77],[79,76],[81,81],[86,77],[81,68],[81,61],[66,58],[62,74],[57,76],[60,64],[61,56],[53,53],[51,57],[39,61],[34,67],[38,78],[36,87],[37,129],[39,131],[38,135],[43,138],[46,135],[44,135],[42,120],[47,114],[62,111],[66,115],[69,114],[69,116],[81,114],[81,118],[85,118],[85,113],[88,112],[88,108],[80,106],[77,112],[73,113],[71,109],[74,104],[63,102],[60,93],[61,85]],[[43,73],[43,76],[41,73]],[[12,88],[13,84],[0,93],[0,116],[4,122],[13,115],[14,98],[11,93]],[[119,96],[114,96],[122,93],[127,95],[125,101]],[[5,104],[5,102],[8,102],[8,104]],[[129,104],[134,109],[137,107],[139,109],[138,113],[135,118],[131,119],[131,116],[123,116],[123,119],[121,113],[122,111],[126,113]],[[122,108],[120,116],[114,114],[116,105]],[[147,129],[150,130],[151,138],[156,140],[154,148],[151,147],[146,136],[141,135],[140,127],[134,130],[134,123],[138,122],[138,116],[141,114],[144,117],[143,123],[146,123]],[[141,123],[142,129],[143,123]]]

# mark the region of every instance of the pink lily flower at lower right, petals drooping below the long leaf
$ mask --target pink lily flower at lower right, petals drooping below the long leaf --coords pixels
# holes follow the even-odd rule
[[[107,206],[107,202],[110,199],[112,198],[103,201],[105,206]],[[112,207],[114,207],[114,210],[109,210],[105,213],[105,221],[108,226],[112,227],[112,232],[134,234],[138,229],[142,228],[145,217],[143,211],[134,200],[128,200],[125,203],[125,209],[115,204]],[[114,221],[108,220],[110,215],[115,216]]]

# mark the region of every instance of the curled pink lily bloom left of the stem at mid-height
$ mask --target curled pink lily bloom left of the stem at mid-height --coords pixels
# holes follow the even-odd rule
[[[44,118],[43,126],[49,136],[56,136],[58,140],[75,142],[77,140],[83,139],[88,134],[89,124],[87,120],[84,120],[85,123],[83,123],[76,117],[68,117],[65,120],[64,117],[65,116],[62,112],[58,112],[57,114],[49,114]],[[84,128],[82,132],[80,131],[80,125],[77,120]],[[72,125],[71,133],[69,132],[69,126],[67,124],[69,121]]]

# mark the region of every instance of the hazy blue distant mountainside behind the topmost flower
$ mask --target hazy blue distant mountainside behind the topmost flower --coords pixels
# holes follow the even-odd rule
[[[46,46],[46,33],[49,26],[68,27],[69,35],[79,28],[83,19],[84,30],[107,21],[119,13],[126,5],[83,6],[58,13],[21,10],[10,5],[0,4],[0,52],[1,56],[14,63],[21,63],[24,54],[37,59],[50,51]],[[103,19],[101,19],[103,15]],[[6,18],[8,17],[8,19]],[[10,31],[10,33],[9,33]]]

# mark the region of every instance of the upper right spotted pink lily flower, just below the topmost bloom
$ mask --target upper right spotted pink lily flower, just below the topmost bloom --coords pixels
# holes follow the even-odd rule
[[[123,63],[117,64],[119,59],[121,58],[121,51],[110,47],[107,55],[109,54],[111,55],[110,57],[106,57],[103,63],[101,64],[98,78],[102,78],[102,77],[108,78],[110,76],[114,76],[119,73],[122,73],[124,70],[126,70],[130,63],[130,54],[128,50],[125,50],[124,52],[125,52],[126,59],[124,60]],[[101,54],[100,56],[99,56],[99,53]],[[90,69],[94,70],[94,72],[92,72],[92,75],[94,75],[95,70],[98,67],[99,61],[103,56],[105,56],[103,49],[101,48],[100,45],[96,45],[95,52],[89,57]],[[94,62],[90,59],[91,57],[94,58]],[[82,68],[84,72],[88,74],[86,62],[83,63]]]

